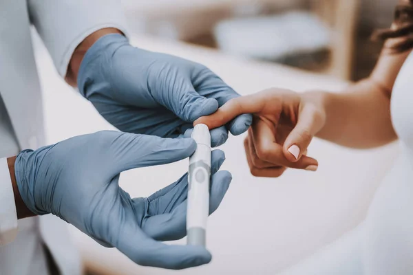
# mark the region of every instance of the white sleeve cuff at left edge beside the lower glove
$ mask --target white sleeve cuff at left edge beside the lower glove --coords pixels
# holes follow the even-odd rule
[[[17,235],[17,212],[7,158],[0,159],[0,246]]]

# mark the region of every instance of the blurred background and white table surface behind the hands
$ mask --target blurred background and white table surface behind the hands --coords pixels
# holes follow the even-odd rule
[[[241,95],[268,87],[339,92],[368,76],[381,49],[372,31],[392,23],[396,0],[123,0],[131,43],[202,63]],[[47,143],[113,129],[92,104],[59,78],[35,32],[44,93]],[[76,111],[74,111],[76,110]],[[317,173],[289,169],[277,179],[253,177],[244,135],[221,148],[233,182],[209,219],[209,265],[179,274],[277,274],[355,228],[366,216],[397,144],[354,150],[315,139]],[[145,197],[187,171],[184,160],[120,177],[132,197]],[[70,227],[88,275],[165,275],[140,267]],[[185,239],[178,241],[184,244]]]

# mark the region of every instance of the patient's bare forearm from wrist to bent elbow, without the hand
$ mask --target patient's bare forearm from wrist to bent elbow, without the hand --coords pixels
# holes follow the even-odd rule
[[[323,91],[304,95],[326,111],[317,137],[352,148],[372,148],[396,140],[390,116],[390,93],[368,78],[340,94]]]

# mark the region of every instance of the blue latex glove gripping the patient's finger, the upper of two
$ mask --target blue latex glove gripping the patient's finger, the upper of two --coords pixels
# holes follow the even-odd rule
[[[239,96],[204,65],[132,47],[120,34],[107,34],[87,50],[78,89],[120,131],[160,137],[189,137],[196,119]],[[251,122],[244,114],[213,129],[212,146],[226,141],[228,129],[239,135]]]

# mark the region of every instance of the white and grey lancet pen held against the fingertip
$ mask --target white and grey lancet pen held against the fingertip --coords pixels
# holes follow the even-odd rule
[[[205,246],[211,177],[211,135],[208,126],[195,125],[191,137],[195,140],[197,148],[189,157],[187,243]]]

